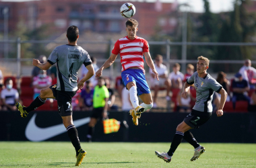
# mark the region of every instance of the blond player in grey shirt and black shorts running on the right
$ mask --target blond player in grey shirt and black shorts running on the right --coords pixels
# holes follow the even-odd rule
[[[197,143],[197,140],[193,137],[193,134],[189,132],[192,128],[199,128],[199,126],[205,124],[212,116],[212,97],[214,91],[220,93],[220,106],[216,112],[217,116],[223,115],[223,107],[226,101],[227,93],[222,88],[222,85],[211,77],[206,71],[209,68],[209,62],[207,58],[199,56],[197,58],[197,72],[193,73],[191,77],[187,79],[184,84],[183,92],[181,96],[187,97],[190,86],[195,87],[197,91],[195,106],[192,112],[177,126],[176,134],[170,145],[168,153],[160,153],[155,151],[156,155],[166,162],[170,162],[174,151],[177,149],[183,138],[187,140],[194,148],[195,153],[191,158],[191,161],[195,161],[199,156],[205,152],[205,148]]]

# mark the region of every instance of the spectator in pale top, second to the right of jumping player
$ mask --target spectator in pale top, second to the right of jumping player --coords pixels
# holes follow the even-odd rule
[[[172,88],[174,89],[181,89],[183,87],[183,79],[184,75],[180,72],[181,65],[179,63],[175,63],[172,67],[172,73],[169,75],[169,79],[172,82]]]

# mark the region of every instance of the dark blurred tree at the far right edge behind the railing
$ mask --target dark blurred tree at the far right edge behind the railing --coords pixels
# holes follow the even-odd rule
[[[224,20],[219,42],[253,42],[256,35],[256,13],[248,12],[251,0],[235,0],[234,11]],[[251,58],[255,49],[251,46],[219,46],[219,59],[241,60]]]

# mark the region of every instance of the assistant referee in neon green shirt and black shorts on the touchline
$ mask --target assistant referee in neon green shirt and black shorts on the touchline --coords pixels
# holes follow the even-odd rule
[[[104,85],[105,81],[103,77],[98,78],[98,85],[94,88],[93,97],[93,110],[90,122],[88,124],[88,142],[92,141],[92,135],[94,133],[94,126],[97,124],[98,120],[103,121],[108,119],[108,89]]]

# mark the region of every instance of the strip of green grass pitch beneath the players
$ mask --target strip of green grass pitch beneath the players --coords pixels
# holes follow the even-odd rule
[[[201,143],[206,152],[191,162],[193,147],[181,143],[170,163],[154,151],[170,143],[82,142],[80,167],[256,167],[256,144]],[[0,167],[74,167],[71,142],[0,142]]]

